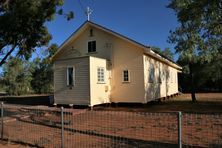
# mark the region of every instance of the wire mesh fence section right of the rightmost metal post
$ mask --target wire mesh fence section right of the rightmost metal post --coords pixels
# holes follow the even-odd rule
[[[182,120],[185,147],[222,147],[221,113],[183,113]]]

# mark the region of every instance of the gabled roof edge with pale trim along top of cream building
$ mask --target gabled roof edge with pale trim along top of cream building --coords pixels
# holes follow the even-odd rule
[[[55,53],[55,55],[52,57],[52,60],[54,61],[54,60],[56,59],[56,57],[62,52],[64,46],[66,46],[70,41],[75,40],[75,38],[77,38],[77,37],[78,37],[85,29],[87,29],[89,26],[95,27],[95,28],[100,29],[100,30],[103,30],[103,31],[105,31],[105,32],[107,32],[107,33],[109,33],[109,34],[112,34],[112,35],[114,35],[114,36],[116,36],[116,37],[118,37],[118,38],[121,38],[121,39],[123,39],[123,40],[125,40],[125,41],[127,41],[127,42],[129,42],[129,43],[131,43],[131,44],[133,44],[133,45],[135,45],[135,46],[138,46],[138,47],[144,49],[144,54],[145,54],[145,55],[149,55],[149,56],[151,56],[151,57],[153,57],[153,58],[156,58],[156,59],[158,59],[158,60],[160,60],[160,61],[162,61],[162,62],[164,62],[164,63],[167,63],[167,64],[171,65],[172,67],[174,67],[174,68],[176,68],[176,69],[178,69],[178,70],[181,70],[181,69],[182,69],[181,66],[179,66],[179,65],[178,65],[177,63],[175,63],[174,61],[168,59],[167,57],[161,55],[160,53],[154,52],[154,51],[151,49],[151,47],[145,46],[145,45],[143,45],[143,44],[141,44],[141,43],[139,43],[139,42],[137,42],[137,41],[135,41],[135,40],[133,40],[133,39],[130,39],[130,38],[128,38],[128,37],[126,37],[126,36],[124,36],[124,35],[122,35],[122,34],[119,34],[119,33],[115,32],[115,31],[112,31],[112,30],[110,30],[110,29],[108,29],[108,28],[105,28],[105,27],[103,27],[103,26],[101,26],[101,25],[99,25],[99,24],[96,24],[96,23],[94,23],[94,22],[91,22],[91,21],[86,21],[86,22],[83,23],[75,32],[73,32],[73,33],[69,36],[69,38],[66,39],[66,40],[61,44],[61,46],[59,47],[58,51],[57,51],[57,52]]]

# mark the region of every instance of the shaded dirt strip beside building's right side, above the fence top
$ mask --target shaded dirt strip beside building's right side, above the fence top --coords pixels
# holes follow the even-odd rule
[[[190,94],[182,94],[161,102],[147,104],[116,104],[113,106],[96,106],[95,110],[132,111],[132,112],[222,112],[222,93],[197,93],[197,102],[191,101]]]

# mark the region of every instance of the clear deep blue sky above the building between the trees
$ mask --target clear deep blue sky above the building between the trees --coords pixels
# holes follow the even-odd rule
[[[65,0],[64,11],[73,11],[75,18],[66,21],[57,16],[47,23],[53,39],[61,45],[82,23],[87,20],[84,9],[93,9],[91,21],[132,38],[144,45],[169,47],[169,31],[178,25],[174,12],[166,8],[168,0]],[[177,56],[176,58],[177,59]]]

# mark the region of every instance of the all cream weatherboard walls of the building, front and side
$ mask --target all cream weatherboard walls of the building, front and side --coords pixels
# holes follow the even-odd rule
[[[96,41],[96,52],[88,53],[88,41]],[[109,102],[146,103],[176,94],[177,68],[145,54],[145,49],[148,48],[110,30],[86,23],[54,57],[55,103],[89,106]],[[148,81],[151,63],[155,67],[152,83]],[[72,89],[66,85],[69,66],[75,67],[76,83]],[[98,83],[98,67],[105,69],[104,83]],[[123,82],[123,70],[129,71],[129,82]]]

